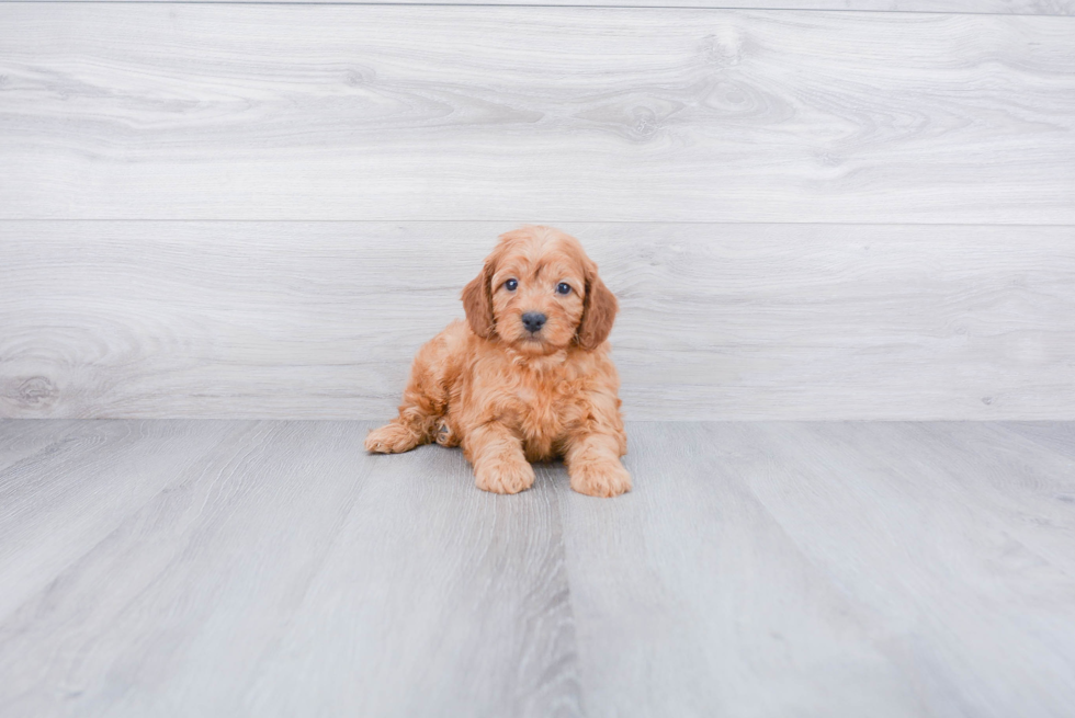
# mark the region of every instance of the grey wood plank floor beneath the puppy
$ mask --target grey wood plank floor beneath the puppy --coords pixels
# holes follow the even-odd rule
[[[0,715],[1071,716],[1075,425],[632,423],[517,497],[361,422],[0,422]]]

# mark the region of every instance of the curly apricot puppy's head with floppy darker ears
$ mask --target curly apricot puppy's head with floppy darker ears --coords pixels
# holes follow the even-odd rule
[[[573,342],[596,349],[612,331],[616,300],[577,239],[523,227],[500,236],[463,289],[463,308],[478,337],[540,356]]]

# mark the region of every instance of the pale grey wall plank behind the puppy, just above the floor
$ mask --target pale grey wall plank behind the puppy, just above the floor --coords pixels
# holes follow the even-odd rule
[[[0,223],[0,415],[392,414],[500,223]],[[1075,228],[568,224],[631,419],[1075,419]]]

